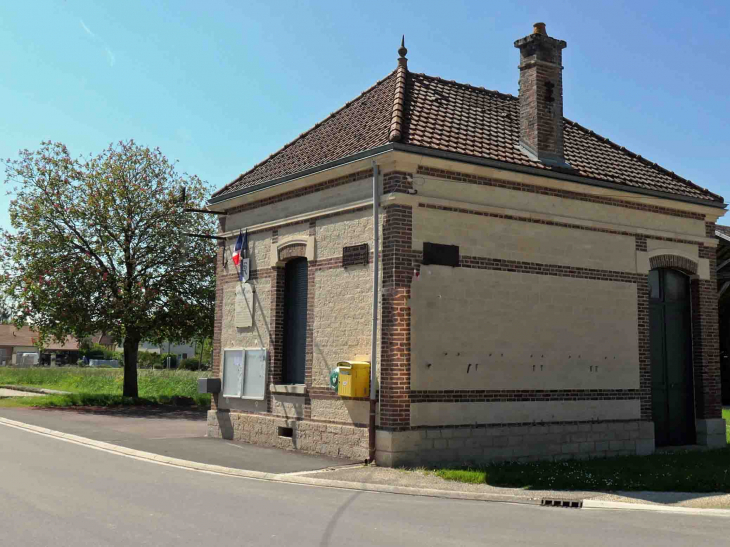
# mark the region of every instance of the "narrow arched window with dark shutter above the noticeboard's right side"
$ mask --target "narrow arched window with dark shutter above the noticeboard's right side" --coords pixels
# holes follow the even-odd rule
[[[307,353],[306,258],[289,260],[284,267],[284,354],[285,384],[305,382]]]

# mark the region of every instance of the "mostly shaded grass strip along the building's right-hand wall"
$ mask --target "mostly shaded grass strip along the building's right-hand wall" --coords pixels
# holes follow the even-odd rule
[[[730,408],[723,410],[730,424]],[[730,425],[727,429],[730,442]],[[730,448],[587,461],[432,469],[447,480],[529,490],[730,492]]]

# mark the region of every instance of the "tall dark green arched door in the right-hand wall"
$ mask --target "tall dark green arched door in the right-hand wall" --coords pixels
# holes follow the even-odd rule
[[[649,272],[649,341],[656,446],[695,444],[690,281],[677,270]]]

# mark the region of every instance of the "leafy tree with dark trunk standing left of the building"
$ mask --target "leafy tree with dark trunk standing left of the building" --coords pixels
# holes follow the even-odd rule
[[[0,234],[0,291],[16,322],[41,340],[123,339],[129,397],[141,340],[213,332],[215,243],[184,235],[216,227],[212,215],[183,212],[210,191],[197,176],[134,141],[80,159],[44,142],[5,167],[15,233]]]

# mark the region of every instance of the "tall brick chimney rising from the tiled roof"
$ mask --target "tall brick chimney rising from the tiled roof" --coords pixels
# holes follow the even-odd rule
[[[520,148],[534,160],[570,167],[563,153],[563,48],[545,23],[515,42],[520,50]]]

